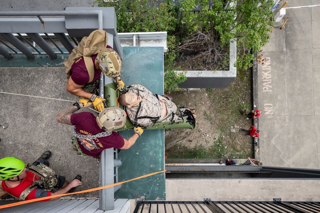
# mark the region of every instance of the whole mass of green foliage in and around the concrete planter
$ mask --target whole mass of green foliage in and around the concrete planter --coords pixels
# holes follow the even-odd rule
[[[252,52],[259,52],[268,43],[272,32],[270,18],[273,12],[270,8],[273,0],[184,0],[177,1],[176,5],[169,0],[96,0],[94,4],[115,8],[118,32],[167,31],[168,51],[164,53],[166,91],[179,90],[178,83],[186,80],[185,73],[178,75],[174,72],[177,70],[174,60],[177,46],[185,42],[188,35],[200,32],[212,37],[220,43],[219,50],[235,39],[238,46],[243,46],[238,49],[235,66],[247,69],[255,59]],[[195,8],[199,13],[191,12]],[[212,50],[217,48],[209,48],[207,52]]]

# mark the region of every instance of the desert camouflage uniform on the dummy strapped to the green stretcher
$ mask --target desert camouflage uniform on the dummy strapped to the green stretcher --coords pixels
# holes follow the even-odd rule
[[[163,115],[162,115],[162,109],[164,108],[163,104],[160,103],[160,101],[156,98],[156,96],[153,95],[152,92],[150,92],[144,86],[141,86],[140,84],[134,84],[131,87],[129,87],[128,92],[132,92],[132,93],[138,95],[137,89],[139,90],[139,96],[142,99],[146,99],[146,101],[141,101],[141,107],[140,107],[140,110],[139,110],[137,117],[141,117],[141,116],[158,117],[159,120],[157,122],[159,122],[160,118],[164,119],[165,117],[170,115],[170,116],[168,116],[167,119],[162,121],[162,122],[169,122],[172,119],[172,112],[177,113],[180,116],[180,112],[177,110],[178,107],[172,101],[169,101],[168,99],[166,99],[162,96],[158,96],[159,99],[164,99],[164,104],[167,107],[167,115],[165,117],[163,117]],[[129,107],[126,108],[129,119],[132,123],[134,123],[134,118],[136,116],[138,108],[139,108],[139,105],[134,106],[134,107],[130,107],[130,108]],[[186,110],[186,108],[181,108],[180,110],[182,112],[184,112]],[[175,114],[173,117],[173,121],[180,120],[181,118],[179,116],[177,116]],[[183,116],[183,119],[187,119],[187,117],[188,117],[188,115]],[[156,119],[140,118],[140,119],[138,119],[138,126],[148,127],[155,120]]]

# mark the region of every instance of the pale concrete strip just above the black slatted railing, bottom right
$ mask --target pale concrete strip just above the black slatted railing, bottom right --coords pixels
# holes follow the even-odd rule
[[[319,187],[318,179],[166,179],[166,200],[319,201]]]

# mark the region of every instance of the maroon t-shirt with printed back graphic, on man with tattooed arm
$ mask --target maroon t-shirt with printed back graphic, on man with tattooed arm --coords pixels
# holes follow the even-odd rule
[[[71,124],[76,125],[76,132],[81,135],[95,135],[101,130],[97,124],[96,117],[90,112],[81,112],[71,115]],[[111,135],[95,138],[95,139],[80,139],[77,138],[78,145],[84,154],[97,157],[103,149],[116,148],[120,149],[124,146],[124,139],[117,132],[112,132]]]

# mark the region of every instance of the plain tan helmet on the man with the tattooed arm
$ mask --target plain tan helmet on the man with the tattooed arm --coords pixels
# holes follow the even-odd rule
[[[125,111],[115,106],[104,108],[96,117],[99,127],[106,131],[123,127],[126,119]]]

